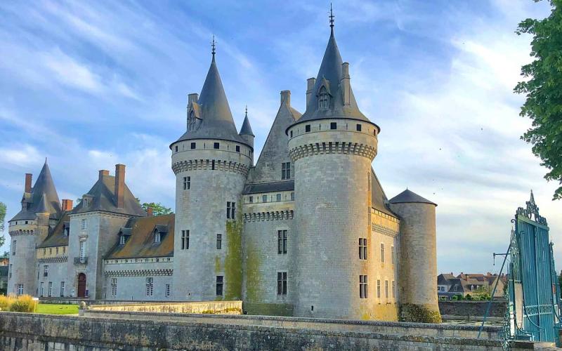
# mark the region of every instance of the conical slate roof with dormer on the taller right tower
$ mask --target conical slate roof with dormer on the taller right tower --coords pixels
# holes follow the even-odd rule
[[[372,123],[364,114],[359,110],[357,102],[355,101],[355,96],[353,95],[353,90],[350,86],[350,104],[344,105],[342,99],[343,93],[341,91],[341,79],[344,78],[342,72],[343,61],[341,60],[341,55],[339,53],[338,46],[336,44],[336,38],[334,37],[334,31],[330,33],[326,51],[324,53],[324,58],[322,58],[322,63],[320,64],[320,69],[318,70],[318,75],[316,77],[316,82],[313,88],[313,93],[311,99],[306,105],[306,112],[302,117],[295,122],[295,124],[301,123],[303,121],[312,121],[315,119],[358,119],[360,121],[366,121],[370,124]],[[319,109],[318,108],[318,91],[322,86],[327,87],[329,95],[331,95],[330,107],[329,109]],[[376,124],[374,124],[377,126]],[[377,129],[380,128],[377,126]]]

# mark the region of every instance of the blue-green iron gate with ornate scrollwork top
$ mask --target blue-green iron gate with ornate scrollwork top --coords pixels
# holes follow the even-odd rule
[[[540,216],[531,192],[527,207],[519,207],[511,232],[508,270],[508,326],[511,339],[559,344],[560,286],[554,269],[547,220]]]

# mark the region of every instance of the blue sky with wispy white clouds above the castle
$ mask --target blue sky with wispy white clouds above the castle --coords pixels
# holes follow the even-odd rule
[[[141,201],[174,207],[168,145],[185,131],[188,93],[207,74],[211,35],[240,128],[248,105],[256,159],[292,91],[303,112],[329,37],[327,1],[2,1],[0,201],[17,213],[24,173],[48,157],[61,199],[99,169],[127,165]],[[362,112],[381,126],[373,166],[388,197],[408,187],[439,204],[438,269],[496,271],[529,190],[562,268],[562,202],[519,140],[529,121],[512,93],[547,1],[334,1],[336,40]],[[7,235],[7,233],[6,233]],[[7,249],[8,246],[4,246]]]

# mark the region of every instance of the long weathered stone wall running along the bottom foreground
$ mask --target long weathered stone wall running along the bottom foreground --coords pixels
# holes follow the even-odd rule
[[[4,350],[502,350],[499,340],[438,335],[0,313]]]

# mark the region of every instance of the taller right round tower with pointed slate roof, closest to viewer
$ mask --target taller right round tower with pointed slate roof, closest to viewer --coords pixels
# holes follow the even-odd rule
[[[360,259],[358,247],[371,237],[371,163],[379,127],[358,109],[333,27],[318,77],[308,79],[306,102],[306,112],[287,128],[298,231],[294,314],[369,319],[374,265]]]

